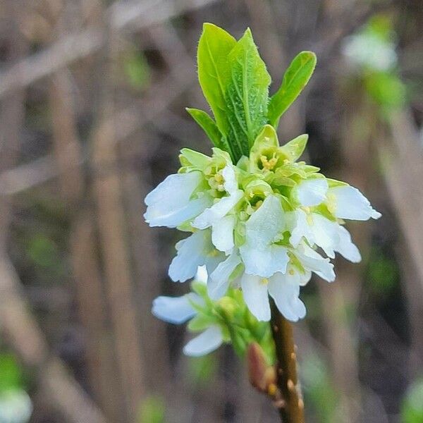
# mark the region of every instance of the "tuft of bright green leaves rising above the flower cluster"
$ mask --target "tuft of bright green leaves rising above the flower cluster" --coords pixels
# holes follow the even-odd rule
[[[249,155],[266,123],[277,127],[279,118],[298,97],[316,66],[314,53],[302,51],[283,76],[279,90],[269,99],[271,78],[250,29],[236,41],[211,23],[204,24],[197,59],[198,79],[216,122],[205,111],[187,111],[235,164]]]

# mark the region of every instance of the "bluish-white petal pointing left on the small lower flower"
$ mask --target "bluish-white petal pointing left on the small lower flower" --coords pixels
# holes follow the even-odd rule
[[[192,308],[190,300],[198,304],[202,302],[202,299],[194,293],[182,297],[157,297],[153,301],[152,313],[157,318],[169,323],[184,323],[197,314]]]

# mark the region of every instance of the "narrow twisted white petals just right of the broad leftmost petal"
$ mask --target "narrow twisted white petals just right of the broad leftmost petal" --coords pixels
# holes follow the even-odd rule
[[[233,248],[233,228],[235,216],[228,215],[236,204],[243,197],[243,191],[238,189],[238,181],[234,166],[228,164],[223,168],[223,188],[228,196],[222,197],[205,209],[200,216],[197,216],[192,223],[194,228],[205,229],[212,226],[212,242],[215,247],[224,252]]]

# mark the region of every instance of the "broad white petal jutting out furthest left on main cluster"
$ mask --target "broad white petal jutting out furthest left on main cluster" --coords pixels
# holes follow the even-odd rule
[[[202,179],[200,171],[192,171],[170,175],[159,183],[145,197],[147,211],[144,218],[149,226],[176,228],[209,207],[212,202],[209,195],[203,194],[192,199],[192,194]]]

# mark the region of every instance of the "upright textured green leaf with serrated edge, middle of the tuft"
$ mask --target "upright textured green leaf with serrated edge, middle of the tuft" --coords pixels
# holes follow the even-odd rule
[[[237,152],[248,156],[250,147],[267,121],[271,82],[250,29],[235,45],[228,61],[231,66],[231,81],[226,91],[228,121],[231,125],[228,142],[238,147]]]

